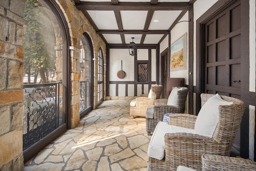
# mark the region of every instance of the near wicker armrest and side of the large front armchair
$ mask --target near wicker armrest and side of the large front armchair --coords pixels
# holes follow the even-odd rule
[[[224,153],[221,145],[213,139],[193,133],[166,133],[164,143],[165,161],[170,163],[171,168],[183,165],[201,170],[203,154],[223,155]]]

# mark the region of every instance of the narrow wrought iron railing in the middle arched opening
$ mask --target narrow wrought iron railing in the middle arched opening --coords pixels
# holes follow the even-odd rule
[[[89,80],[80,81],[80,112],[87,109],[89,105]]]

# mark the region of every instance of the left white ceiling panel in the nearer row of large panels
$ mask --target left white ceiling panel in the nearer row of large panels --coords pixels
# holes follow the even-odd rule
[[[87,11],[99,30],[118,30],[114,11]]]

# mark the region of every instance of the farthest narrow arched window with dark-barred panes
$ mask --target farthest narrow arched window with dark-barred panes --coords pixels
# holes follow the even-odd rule
[[[98,104],[103,101],[103,54],[98,52]]]

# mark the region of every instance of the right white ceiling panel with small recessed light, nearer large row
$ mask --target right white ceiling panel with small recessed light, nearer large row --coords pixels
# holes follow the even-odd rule
[[[148,30],[168,30],[182,11],[155,11]]]

